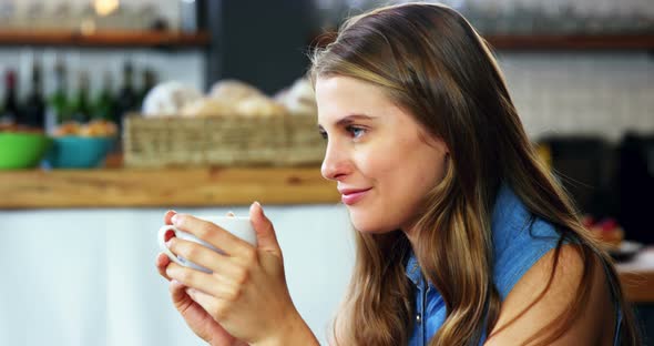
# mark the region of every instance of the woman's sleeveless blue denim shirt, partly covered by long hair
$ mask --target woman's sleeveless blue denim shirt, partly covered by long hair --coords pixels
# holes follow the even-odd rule
[[[530,214],[524,204],[503,185],[498,193],[491,221],[493,281],[502,302],[522,275],[545,253],[554,248],[559,241],[559,234],[551,224],[535,218],[529,227],[529,220]],[[426,283],[413,255],[407,262],[407,276],[416,285],[416,316],[409,346],[428,345],[446,319],[446,305],[436,287],[431,283]],[[619,344],[617,328],[621,320],[622,316],[619,313],[615,345]],[[486,334],[482,335],[480,345],[484,342]]]

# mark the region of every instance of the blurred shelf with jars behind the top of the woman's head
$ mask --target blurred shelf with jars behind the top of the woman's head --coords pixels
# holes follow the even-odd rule
[[[388,1],[400,3],[402,1]],[[651,1],[442,0],[463,14],[497,50],[654,50]],[[367,0],[319,1],[321,28],[335,31],[344,18],[378,7]],[[313,41],[325,45],[333,35]]]

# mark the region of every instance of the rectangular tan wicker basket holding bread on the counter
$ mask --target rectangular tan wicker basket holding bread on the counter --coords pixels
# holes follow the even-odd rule
[[[125,118],[130,167],[299,165],[323,160],[315,116]]]

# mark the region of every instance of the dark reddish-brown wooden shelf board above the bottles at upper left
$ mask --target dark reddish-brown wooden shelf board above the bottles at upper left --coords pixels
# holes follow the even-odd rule
[[[167,31],[11,31],[0,30],[0,45],[64,45],[89,48],[166,47],[194,48],[207,45],[207,32],[180,33]]]

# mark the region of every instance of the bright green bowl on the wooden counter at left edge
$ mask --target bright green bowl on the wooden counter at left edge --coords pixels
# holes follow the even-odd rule
[[[0,132],[0,170],[27,170],[39,165],[51,140],[40,133]]]

